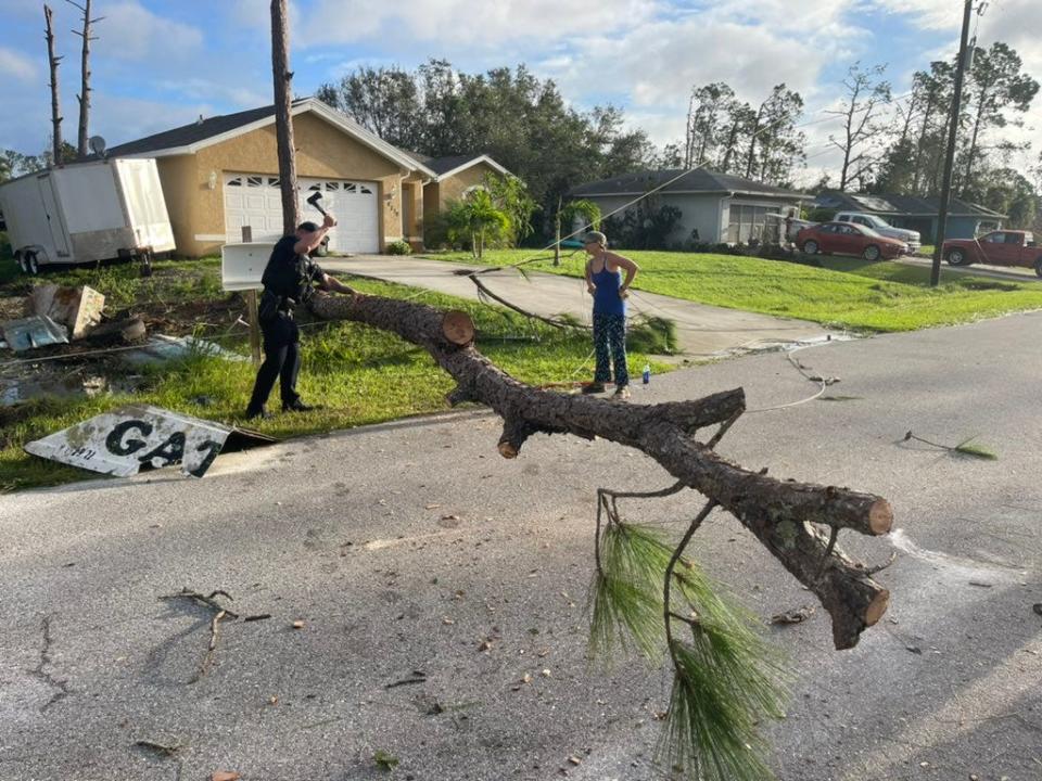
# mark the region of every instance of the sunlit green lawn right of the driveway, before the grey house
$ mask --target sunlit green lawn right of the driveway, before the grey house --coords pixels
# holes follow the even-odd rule
[[[928,268],[860,258],[817,256],[818,266],[732,255],[627,252],[640,265],[634,287],[688,300],[819,322],[854,331],[914,331],[1014,311],[1042,308],[1042,284],[966,277],[942,269],[929,287]],[[582,277],[585,255],[563,255],[555,268],[547,253],[487,252],[485,265],[541,258],[523,268]],[[469,253],[431,255],[473,263]]]

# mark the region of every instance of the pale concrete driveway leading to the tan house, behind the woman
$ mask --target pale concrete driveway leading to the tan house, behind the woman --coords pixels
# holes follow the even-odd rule
[[[467,277],[453,273],[478,268],[474,266],[386,255],[325,258],[321,265],[330,271],[428,287],[462,298],[478,298],[474,283]],[[486,273],[481,279],[493,293],[522,309],[548,317],[568,312],[583,322],[589,322],[593,302],[582,280],[537,271],[529,272],[525,278],[514,270]],[[636,290],[632,291],[630,309],[637,316],[673,320],[681,351],[691,357],[754,350],[777,343],[815,341],[828,334],[817,323],[695,304]]]

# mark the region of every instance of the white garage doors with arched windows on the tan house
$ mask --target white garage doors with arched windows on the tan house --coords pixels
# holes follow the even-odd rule
[[[278,241],[282,235],[282,196],[279,178],[260,174],[225,174],[225,232],[229,242],[242,241],[242,227],[253,229],[254,241]],[[316,190],[322,193],[322,206],[336,217],[329,233],[334,252],[374,253],[380,251],[377,218],[377,183],[345,179],[302,177],[301,219],[321,221],[321,215],[306,203]]]

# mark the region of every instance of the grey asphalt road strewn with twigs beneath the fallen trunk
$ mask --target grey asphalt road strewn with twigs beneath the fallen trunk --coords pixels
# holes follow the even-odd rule
[[[804,350],[841,377],[828,395],[855,398],[750,411],[721,445],[897,514],[889,538],[840,537],[872,563],[900,553],[878,576],[891,609],[856,649],[831,650],[821,609],[770,630],[796,675],[767,730],[780,779],[1042,777],[1040,328],[1032,313]],[[775,353],[655,376],[634,402],[736,385],[751,410],[815,389]],[[910,428],[979,435],[1000,459],[902,443]],[[669,678],[588,665],[584,605],[594,489],[668,478],[563,436],[505,461],[498,434],[475,411],[225,454],[201,481],[0,498],[0,779],[660,778]],[[698,505],[624,509],[681,522]],[[764,617],[812,604],[729,516],[692,552]],[[271,615],[223,623],[195,682],[211,613],[160,599],[186,586]],[[399,760],[390,776],[378,751]]]

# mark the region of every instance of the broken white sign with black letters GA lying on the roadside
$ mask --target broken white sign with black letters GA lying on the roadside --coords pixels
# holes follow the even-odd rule
[[[244,450],[274,441],[257,432],[160,407],[130,405],[31,441],[25,451],[116,477],[175,463],[181,464],[185,474],[202,477],[223,450]]]

